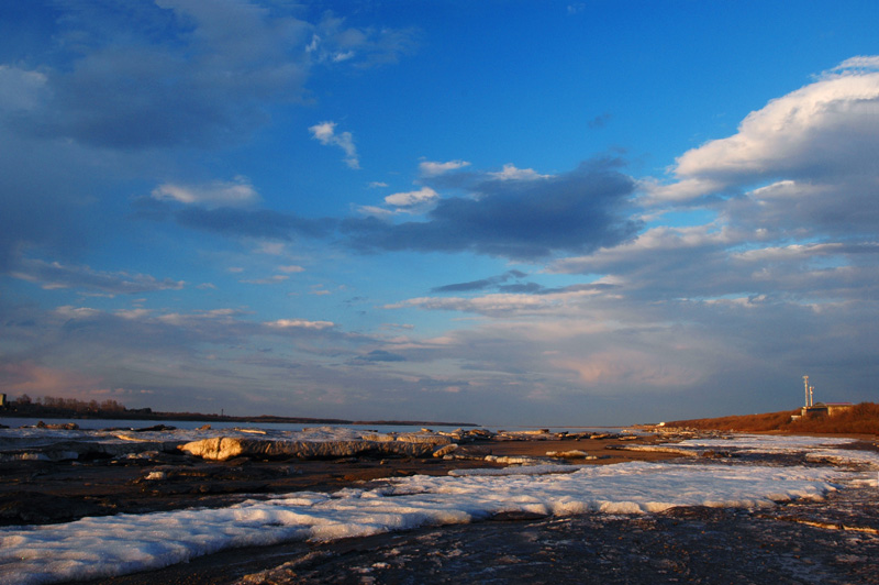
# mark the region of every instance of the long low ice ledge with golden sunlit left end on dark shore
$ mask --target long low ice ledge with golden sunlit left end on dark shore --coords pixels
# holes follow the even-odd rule
[[[338,459],[357,455],[422,457],[433,452],[431,443],[408,441],[271,441],[216,437],[180,445],[190,455],[211,461],[248,456],[258,459]]]

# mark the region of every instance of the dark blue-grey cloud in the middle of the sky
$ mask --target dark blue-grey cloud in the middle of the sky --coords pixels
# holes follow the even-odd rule
[[[469,251],[537,258],[614,246],[639,228],[625,213],[635,183],[617,166],[599,159],[542,180],[480,180],[471,197],[439,199],[426,221],[352,219],[342,230],[364,252]]]

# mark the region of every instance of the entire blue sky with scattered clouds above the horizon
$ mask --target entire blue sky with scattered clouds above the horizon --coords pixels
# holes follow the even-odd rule
[[[879,4],[0,1],[0,391],[877,401]]]

